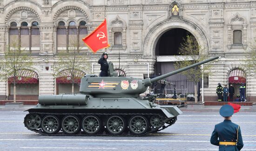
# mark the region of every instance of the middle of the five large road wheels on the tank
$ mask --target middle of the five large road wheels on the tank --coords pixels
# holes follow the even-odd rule
[[[101,129],[101,120],[97,116],[88,115],[82,120],[82,129],[86,134],[96,134]]]

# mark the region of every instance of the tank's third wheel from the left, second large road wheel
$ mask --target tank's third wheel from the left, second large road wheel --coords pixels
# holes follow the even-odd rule
[[[79,132],[81,130],[80,125],[80,120],[74,115],[65,116],[61,122],[63,132],[70,135]]]

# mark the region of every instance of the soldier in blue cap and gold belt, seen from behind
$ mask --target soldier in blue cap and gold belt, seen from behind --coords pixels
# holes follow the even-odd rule
[[[231,105],[224,105],[220,109],[224,121],[215,125],[210,139],[212,145],[219,146],[219,151],[240,151],[243,148],[240,126],[231,122],[233,113]]]

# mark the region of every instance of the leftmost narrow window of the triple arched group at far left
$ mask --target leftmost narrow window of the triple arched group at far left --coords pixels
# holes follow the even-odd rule
[[[17,23],[12,22],[9,30],[9,45],[10,47],[14,47],[14,45],[19,45],[19,30],[17,27]]]

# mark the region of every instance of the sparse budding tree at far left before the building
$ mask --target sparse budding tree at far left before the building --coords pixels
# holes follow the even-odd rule
[[[32,66],[30,51],[21,49],[17,40],[13,40],[4,52],[4,59],[0,60],[2,76],[1,80],[11,78],[13,82],[13,101],[16,102],[16,84],[22,73],[22,69]]]

